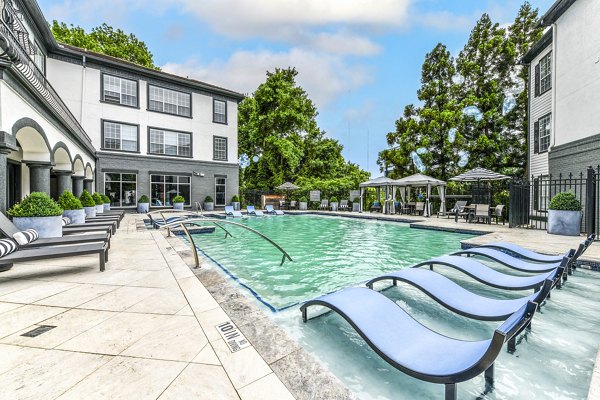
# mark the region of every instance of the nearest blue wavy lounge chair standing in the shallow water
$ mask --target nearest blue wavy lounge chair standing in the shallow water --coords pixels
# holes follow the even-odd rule
[[[341,315],[367,344],[400,371],[427,382],[444,384],[446,400],[455,400],[456,384],[485,372],[494,382],[494,361],[505,342],[529,326],[537,304],[529,302],[512,314],[491,339],[468,342],[441,335],[421,325],[381,293],[349,288],[310,300],[300,307],[325,306]]]

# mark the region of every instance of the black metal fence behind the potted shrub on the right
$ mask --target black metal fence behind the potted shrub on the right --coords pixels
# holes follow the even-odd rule
[[[546,229],[550,200],[557,193],[566,191],[574,193],[581,202],[581,232],[597,234],[600,227],[600,165],[577,175],[540,175],[526,181],[511,181],[509,226]]]

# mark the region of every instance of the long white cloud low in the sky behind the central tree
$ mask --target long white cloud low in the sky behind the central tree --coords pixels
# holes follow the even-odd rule
[[[323,107],[341,94],[373,81],[372,71],[365,66],[350,65],[341,57],[300,48],[283,52],[238,51],[225,61],[190,59],[183,64],[167,63],[161,68],[242,93],[252,93],[265,81],[266,71],[290,66],[298,71],[298,84],[317,107]]]

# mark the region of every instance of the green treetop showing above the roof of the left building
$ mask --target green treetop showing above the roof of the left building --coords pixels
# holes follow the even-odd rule
[[[154,65],[153,56],[146,43],[134,34],[129,35],[121,29],[113,29],[106,23],[92,28],[90,33],[79,26],[64,22],[52,21],[52,34],[57,41],[81,47],[97,53],[117,57],[144,67],[158,69]]]

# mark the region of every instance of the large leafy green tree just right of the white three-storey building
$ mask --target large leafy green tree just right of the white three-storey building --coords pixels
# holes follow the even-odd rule
[[[369,173],[346,162],[343,146],[317,125],[317,109],[297,83],[294,68],[267,72],[267,79],[239,105],[242,190],[267,190],[286,182],[304,189],[356,189]]]

